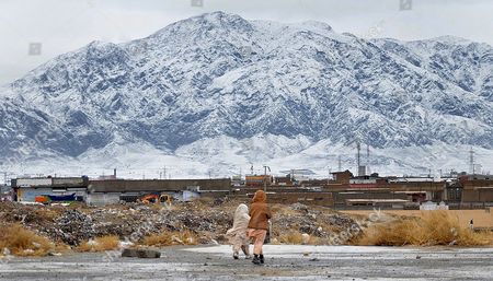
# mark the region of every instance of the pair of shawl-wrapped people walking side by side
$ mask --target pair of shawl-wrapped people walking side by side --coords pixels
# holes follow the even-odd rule
[[[264,264],[263,245],[268,230],[268,220],[272,218],[267,206],[267,196],[257,190],[253,196],[250,211],[245,204],[240,204],[234,212],[233,227],[226,236],[233,248],[233,258],[238,259],[240,249],[245,258],[250,258],[250,238],[253,238],[253,260],[255,265]]]

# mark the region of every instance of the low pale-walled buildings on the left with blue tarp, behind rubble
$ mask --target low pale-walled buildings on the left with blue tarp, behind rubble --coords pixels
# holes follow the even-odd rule
[[[89,179],[82,177],[16,178],[11,182],[12,200],[23,203],[70,203],[90,206],[138,202],[142,198],[167,195],[190,201],[200,196],[223,197],[231,180],[219,179]]]

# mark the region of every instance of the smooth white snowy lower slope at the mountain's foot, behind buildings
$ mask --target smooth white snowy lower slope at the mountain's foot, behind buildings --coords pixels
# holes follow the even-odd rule
[[[272,148],[274,145],[275,148]],[[370,172],[380,175],[428,175],[437,176],[450,169],[468,169],[469,145],[433,145],[408,148],[370,148],[369,161],[366,148],[363,164],[369,164]],[[273,155],[273,151],[275,154]],[[296,151],[296,152],[295,152]],[[484,173],[493,166],[493,151],[474,148],[475,161],[483,165]],[[342,169],[356,169],[355,149],[343,143],[322,140],[305,143],[302,138],[289,140],[283,136],[255,136],[237,140],[231,137],[204,139],[181,148],[176,153],[158,150],[146,143],[107,145],[90,149],[78,157],[39,157],[27,165],[14,165],[10,171],[18,174],[49,174],[58,176],[113,174],[117,168],[119,177],[128,178],[183,178],[183,177],[230,177],[250,173],[263,174],[268,165],[274,175],[285,171],[308,168],[314,177],[326,177],[329,171],[337,171],[341,156]],[[164,174],[165,173],[165,174]]]

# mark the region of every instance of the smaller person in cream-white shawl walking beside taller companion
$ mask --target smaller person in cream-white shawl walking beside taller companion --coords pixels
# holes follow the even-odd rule
[[[246,235],[249,221],[249,207],[243,203],[238,206],[237,211],[234,211],[233,226],[226,233],[229,244],[232,245],[234,259],[239,258],[240,249],[242,249],[245,258],[251,258],[249,249],[250,241]]]

